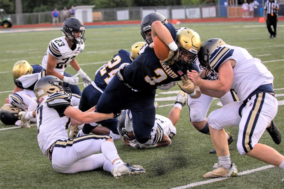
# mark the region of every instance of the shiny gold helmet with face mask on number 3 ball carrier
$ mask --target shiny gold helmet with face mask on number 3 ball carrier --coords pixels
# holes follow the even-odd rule
[[[185,66],[191,66],[196,60],[201,47],[201,40],[198,33],[188,28],[178,31],[177,45],[181,52],[178,57],[180,69]],[[185,57],[188,57],[188,59],[184,60]]]

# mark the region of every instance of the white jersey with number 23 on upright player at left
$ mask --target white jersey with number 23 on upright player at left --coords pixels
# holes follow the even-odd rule
[[[85,44],[75,44],[69,48],[68,43],[65,39],[65,36],[53,39],[50,41],[48,47],[47,47],[47,53],[43,57],[41,65],[43,69],[46,70],[47,66],[47,60],[48,56],[54,56],[57,58],[57,64],[54,67],[54,70],[63,75],[65,68],[67,67],[67,64],[71,62],[75,56],[77,56],[80,52],[84,50]]]

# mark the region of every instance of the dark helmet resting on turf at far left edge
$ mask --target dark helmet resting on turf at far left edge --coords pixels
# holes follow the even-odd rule
[[[19,112],[22,109],[12,106],[11,104],[4,104],[0,109],[0,120],[5,125],[14,125],[17,120],[19,120]]]

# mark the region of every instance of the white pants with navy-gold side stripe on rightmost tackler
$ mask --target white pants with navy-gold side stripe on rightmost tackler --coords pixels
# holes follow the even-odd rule
[[[239,111],[242,104],[241,101],[227,104],[211,112],[207,121],[212,128],[219,130],[224,127],[238,126],[237,148],[243,155],[254,148],[277,114],[278,101],[269,93],[258,93],[252,96]]]

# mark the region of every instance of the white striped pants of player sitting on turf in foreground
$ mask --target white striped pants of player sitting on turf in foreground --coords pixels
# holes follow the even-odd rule
[[[101,153],[101,144],[109,138],[109,135],[85,135],[74,140],[57,140],[51,156],[53,169],[72,174],[111,164],[103,154],[97,154]]]

